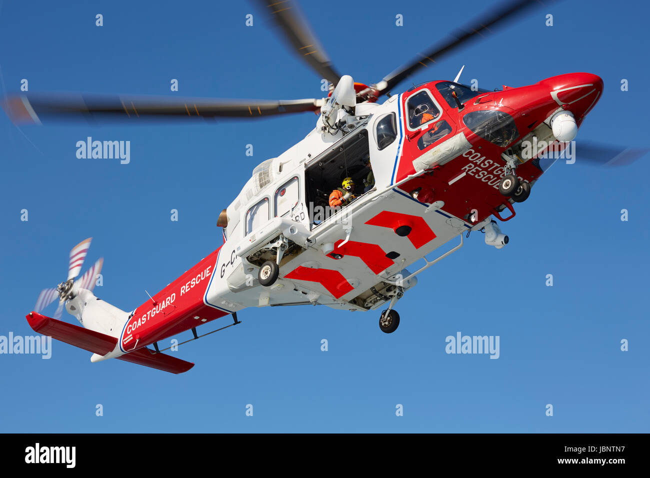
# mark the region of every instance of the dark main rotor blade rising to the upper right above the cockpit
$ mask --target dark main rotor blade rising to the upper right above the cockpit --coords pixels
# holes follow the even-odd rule
[[[430,49],[419,54],[416,59],[401,66],[394,72],[383,77],[382,81],[374,88],[376,94],[383,94],[394,88],[398,83],[428,66],[435,63],[435,61],[443,55],[452,53],[460,47],[464,47],[476,36],[487,36],[487,34],[494,33],[496,27],[504,27],[506,20],[513,20],[517,15],[523,14],[526,10],[539,5],[549,5],[554,3],[555,0],[510,0],[497,5],[493,10],[484,14],[452,33],[446,40],[435,44]]]

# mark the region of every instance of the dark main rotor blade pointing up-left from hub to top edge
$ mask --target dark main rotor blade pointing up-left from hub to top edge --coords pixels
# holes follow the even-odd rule
[[[257,0],[257,3],[265,8],[267,14],[282,30],[298,57],[318,75],[336,86],[341,75],[331,66],[330,58],[300,13],[298,4],[294,0]]]

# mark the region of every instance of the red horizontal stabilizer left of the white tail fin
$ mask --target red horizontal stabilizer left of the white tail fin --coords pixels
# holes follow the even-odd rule
[[[94,352],[99,355],[105,355],[115,349],[118,339],[115,337],[100,334],[94,330],[72,325],[67,322],[58,321],[51,317],[45,317],[38,312],[27,314],[27,322],[34,332],[51,336],[75,347]]]

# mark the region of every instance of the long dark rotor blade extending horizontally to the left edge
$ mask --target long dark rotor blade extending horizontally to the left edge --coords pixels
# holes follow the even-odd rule
[[[137,121],[145,118],[257,118],[274,114],[317,111],[323,100],[213,100],[155,96],[98,96],[30,94],[9,96],[3,109],[15,123],[40,124],[41,118],[112,118]]]

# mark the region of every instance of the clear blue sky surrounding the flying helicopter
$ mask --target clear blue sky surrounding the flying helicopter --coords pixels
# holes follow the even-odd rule
[[[320,78],[251,3],[145,5],[5,0],[3,88],[17,92],[25,78],[30,92],[320,96]],[[486,8],[476,0],[422,5],[304,2],[303,9],[339,72],[373,83]],[[103,27],[95,26],[98,13]],[[253,27],[244,25],[248,13]],[[453,79],[463,64],[462,81],[489,89],[596,73],[604,94],[578,148],[583,139],[648,146],[647,13],[642,3],[565,1],[412,81]],[[395,26],[396,14],[404,27]],[[348,31],[340,26],[346,18]],[[172,78],[178,93],[170,92]],[[619,88],[623,78],[628,92]],[[0,335],[33,333],[25,314],[42,288],[64,278],[70,248],[88,236],[88,265],[105,258],[96,294],[123,310],[144,302],[145,289],[161,289],[222,243],[219,211],[255,165],[302,139],[315,120],[305,113],[17,129],[0,115]],[[77,159],[75,143],[87,136],[130,140],[131,163]],[[502,225],[510,244],[496,250],[473,233],[400,300],[394,334],[379,330],[377,312],[266,308],[244,310],[241,325],[181,346],[176,355],[196,366],[178,376],[117,360],[91,364],[90,352],[57,341],[50,360],[0,355],[0,431],[647,432],[648,161],[554,165]],[[29,221],[21,222],[21,209]],[[620,220],[621,209],[629,221]],[[499,359],[446,354],[445,338],[459,331],[499,336]],[[620,350],[621,339],[629,351]],[[396,416],[397,404],[404,416]]]

